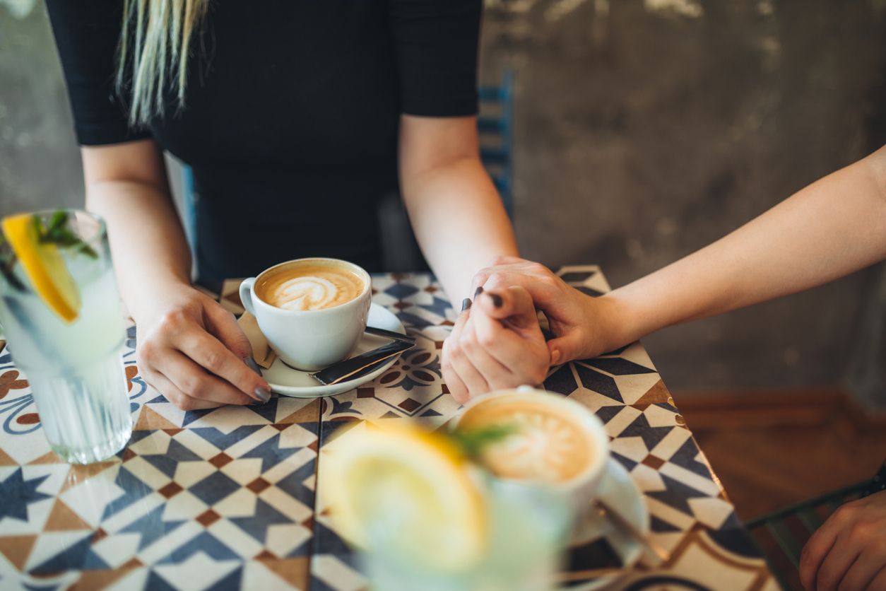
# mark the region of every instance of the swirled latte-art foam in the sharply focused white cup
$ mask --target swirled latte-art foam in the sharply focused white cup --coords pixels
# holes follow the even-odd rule
[[[261,277],[260,299],[284,310],[322,310],[357,298],[365,287],[361,277],[331,265],[284,267]]]

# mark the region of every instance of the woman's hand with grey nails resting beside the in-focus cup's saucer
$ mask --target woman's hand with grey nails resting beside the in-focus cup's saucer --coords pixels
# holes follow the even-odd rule
[[[150,385],[183,410],[268,401],[268,382],[246,366],[253,349],[234,315],[185,284],[155,300],[136,318],[138,369]]]

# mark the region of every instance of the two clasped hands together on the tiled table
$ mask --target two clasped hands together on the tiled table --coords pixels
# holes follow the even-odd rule
[[[591,298],[539,263],[501,257],[474,278],[474,301],[443,345],[443,377],[455,400],[540,384],[551,365],[623,345],[618,304]],[[555,338],[545,342],[538,307]]]

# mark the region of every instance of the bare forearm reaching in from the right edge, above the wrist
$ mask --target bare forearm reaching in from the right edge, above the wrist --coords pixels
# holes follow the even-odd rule
[[[886,258],[886,148],[609,296],[628,338],[800,292]]]

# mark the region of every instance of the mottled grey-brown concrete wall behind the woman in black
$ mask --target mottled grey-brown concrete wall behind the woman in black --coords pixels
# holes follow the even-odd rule
[[[481,78],[517,70],[525,255],[625,284],[886,142],[882,4],[487,0]],[[82,204],[60,74],[43,4],[0,0],[0,214]],[[646,344],[675,390],[851,374],[882,400],[880,281],[869,270]]]

